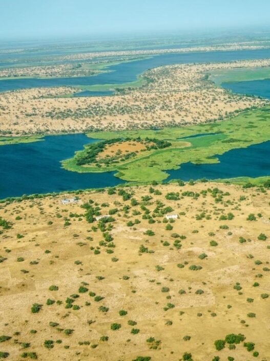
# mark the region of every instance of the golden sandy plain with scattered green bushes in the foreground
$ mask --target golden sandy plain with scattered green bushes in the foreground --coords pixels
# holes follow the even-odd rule
[[[200,194],[215,187],[223,192],[219,202],[209,192]],[[65,205],[60,202],[64,195],[1,204],[0,217],[12,222],[11,229],[0,226],[0,329],[1,335],[11,337],[0,344],[0,351],[9,353],[7,359],[22,360],[22,353],[36,352],[40,361],[132,361],[137,356],[178,361],[188,352],[195,361],[214,356],[247,361],[257,351],[258,360],[270,360],[270,297],[261,297],[270,293],[269,191],[213,183],[153,188],[161,194],[149,194],[149,186],[127,188],[140,202],[136,206],[107,191],[86,192],[79,195],[79,203]],[[187,191],[200,195],[194,199]],[[179,200],[166,199],[171,192],[179,192]],[[169,223],[162,222],[163,216],[153,218],[153,224],[142,217],[141,197],[149,195],[152,199],[144,198],[144,205],[150,216],[158,204],[162,208],[158,201],[179,215],[170,223],[172,230],[166,230]],[[88,223],[80,216],[85,214],[81,204],[89,199],[103,215],[117,208],[108,231],[114,248],[104,242],[103,232],[92,230],[96,221]],[[220,220],[228,213],[232,220]],[[256,221],[247,221],[249,214],[255,214]],[[140,223],[127,225],[135,219]],[[181,249],[174,245],[176,233],[186,237]],[[268,238],[259,240],[261,233]],[[245,242],[239,242],[240,237]],[[212,240],[218,245],[211,246]],[[140,253],[141,245],[151,252]],[[202,268],[194,271],[192,265]],[[58,290],[50,291],[52,285]],[[79,293],[80,286],[87,292]],[[89,292],[103,299],[95,300]],[[73,305],[80,308],[65,308],[74,294],[79,297],[73,296]],[[48,306],[47,299],[58,302]],[[43,305],[38,313],[31,312],[33,303]],[[166,310],[168,303],[173,306]],[[102,312],[100,306],[109,310]],[[128,313],[120,316],[120,310]],[[248,317],[250,313],[255,317]],[[111,330],[114,323],[121,328]],[[66,335],[67,329],[72,334]],[[134,334],[132,329],[139,331]],[[226,344],[217,351],[214,341],[230,333],[243,334],[245,342],[255,344],[254,351],[248,352],[243,342],[236,349]],[[108,341],[100,340],[102,336]],[[160,343],[147,342],[149,337]],[[54,341],[52,349],[44,347],[46,340]],[[153,345],[156,350],[150,349]]]

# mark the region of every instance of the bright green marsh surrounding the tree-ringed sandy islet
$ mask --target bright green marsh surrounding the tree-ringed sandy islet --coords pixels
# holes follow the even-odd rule
[[[94,139],[155,139],[168,141],[170,146],[151,149],[119,163],[108,162],[101,166],[84,166],[78,161],[87,155],[93,145],[86,145],[72,159],[63,161],[64,168],[75,172],[118,171],[116,177],[131,182],[162,181],[168,178],[164,171],[178,169],[186,162],[194,164],[219,163],[218,155],[236,148],[245,148],[270,139],[270,108],[246,111],[218,123],[160,130],[125,130],[118,132],[91,132]],[[197,137],[194,137],[197,136]],[[198,137],[199,136],[199,137]],[[102,145],[103,141],[99,143]],[[96,143],[98,144],[98,143]],[[105,144],[105,143],[104,143]],[[112,160],[112,159],[111,159]],[[86,164],[86,163],[85,163]]]

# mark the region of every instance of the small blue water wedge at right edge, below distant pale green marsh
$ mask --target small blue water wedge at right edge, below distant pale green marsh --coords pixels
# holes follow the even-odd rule
[[[234,93],[270,99],[270,79],[222,83],[221,86],[225,89],[232,90]]]

